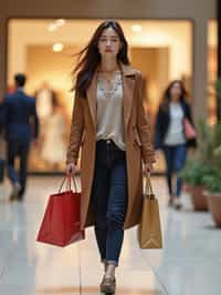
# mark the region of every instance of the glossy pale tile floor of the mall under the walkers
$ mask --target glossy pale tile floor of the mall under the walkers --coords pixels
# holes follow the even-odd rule
[[[93,230],[65,248],[35,242],[49,193],[61,177],[31,177],[23,203],[6,202],[0,187],[0,294],[97,295],[103,275]],[[136,228],[126,232],[118,295],[220,295],[221,231],[209,213],[193,213],[187,195],[181,212],[167,207],[164,179],[154,179],[160,204],[164,250],[140,251]],[[4,191],[4,192],[3,192]]]

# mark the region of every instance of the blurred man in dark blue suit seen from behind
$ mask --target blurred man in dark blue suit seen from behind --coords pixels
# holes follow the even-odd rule
[[[8,174],[13,186],[10,201],[23,200],[30,145],[32,139],[36,140],[39,134],[35,100],[24,93],[25,81],[24,74],[15,74],[17,90],[13,94],[7,94],[3,100]],[[14,169],[17,157],[20,160],[19,174]]]

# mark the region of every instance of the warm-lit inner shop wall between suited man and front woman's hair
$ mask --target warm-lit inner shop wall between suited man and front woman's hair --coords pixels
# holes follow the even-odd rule
[[[51,45],[27,47],[27,92],[34,94],[44,81],[50,81],[50,87],[59,95],[60,102],[69,116],[71,116],[73,102],[73,92],[70,91],[73,68],[71,54],[75,51],[78,51],[78,48],[69,47],[65,52],[61,53],[53,52]]]

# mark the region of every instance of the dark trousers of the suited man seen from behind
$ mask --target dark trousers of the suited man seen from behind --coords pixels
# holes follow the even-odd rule
[[[25,192],[29,150],[30,150],[29,141],[20,141],[20,140],[8,141],[8,146],[7,146],[8,175],[12,185],[14,185],[15,183],[19,183],[21,185],[21,190],[19,192],[20,200],[22,200],[23,194]],[[15,171],[14,166],[15,159],[18,159],[20,162],[19,173]]]

